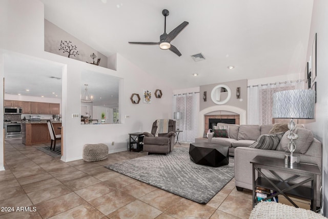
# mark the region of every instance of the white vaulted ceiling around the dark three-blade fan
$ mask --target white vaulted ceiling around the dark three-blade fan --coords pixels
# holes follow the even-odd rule
[[[311,0],[41,1],[48,21],[107,56],[121,54],[173,89],[303,72],[313,6]],[[171,42],[180,57],[157,45],[128,44],[158,42],[163,9],[170,11],[167,33],[189,22]],[[200,52],[206,60],[194,62],[191,55]]]

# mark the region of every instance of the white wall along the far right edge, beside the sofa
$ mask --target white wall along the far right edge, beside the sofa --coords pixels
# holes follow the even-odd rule
[[[309,37],[308,54],[312,55],[312,43],[317,33],[317,103],[315,120],[306,124],[315,137],[322,142],[322,178],[323,178],[323,212],[328,216],[328,1],[315,0],[313,4],[311,31]]]

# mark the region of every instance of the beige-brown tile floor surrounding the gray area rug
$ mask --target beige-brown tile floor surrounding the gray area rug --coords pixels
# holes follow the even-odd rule
[[[104,167],[146,154],[124,151],[109,154],[105,161],[65,163],[36,146],[24,146],[20,138],[6,140],[6,170],[0,171],[0,218],[249,217],[252,192],[237,191],[234,179],[204,205]],[[5,212],[5,207],[14,207],[14,211]],[[18,211],[17,207],[30,208]]]

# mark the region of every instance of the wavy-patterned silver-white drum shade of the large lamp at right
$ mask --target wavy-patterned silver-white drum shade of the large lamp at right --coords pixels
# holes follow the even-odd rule
[[[286,90],[273,94],[273,118],[314,118],[314,90]]]

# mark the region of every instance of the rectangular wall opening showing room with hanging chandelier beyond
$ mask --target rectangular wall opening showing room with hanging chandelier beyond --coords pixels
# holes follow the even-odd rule
[[[81,72],[81,124],[100,124],[101,120],[105,124],[118,123],[119,80],[104,73]],[[84,100],[86,93],[90,101]]]

